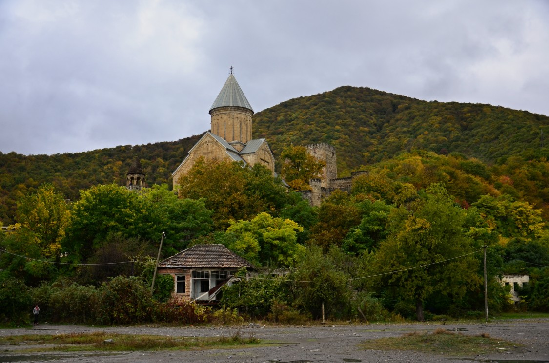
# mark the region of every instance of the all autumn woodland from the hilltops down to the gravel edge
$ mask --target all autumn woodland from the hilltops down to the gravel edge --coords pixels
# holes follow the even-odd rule
[[[0,321],[25,324],[33,303],[54,322],[215,321],[216,311],[194,304],[180,319],[172,275],[150,290],[160,236],[163,257],[217,243],[260,268],[259,278],[223,287],[223,316],[300,325],[324,313],[338,321],[481,317],[485,278],[491,314],[549,311],[548,121],[351,87],[260,112],[254,137],[288,160],[278,170],[293,189],[318,172],[299,145],[334,145],[340,176],[366,171],[318,207],[270,169],[229,160],[200,158],[176,195],[170,174],[200,135],[0,154],[0,223],[10,225],[0,229],[0,296],[9,297],[0,298]],[[140,192],[121,186],[135,157],[151,186]],[[273,278],[281,269],[290,272]],[[504,274],[530,280],[506,286]],[[124,310],[113,310],[113,296],[128,302]]]

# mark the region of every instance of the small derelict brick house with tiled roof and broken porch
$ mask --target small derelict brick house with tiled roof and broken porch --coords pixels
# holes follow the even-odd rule
[[[173,277],[176,302],[216,303],[221,287],[240,281],[234,274],[256,267],[223,245],[195,245],[159,262],[158,273]],[[247,276],[248,276],[247,273]]]

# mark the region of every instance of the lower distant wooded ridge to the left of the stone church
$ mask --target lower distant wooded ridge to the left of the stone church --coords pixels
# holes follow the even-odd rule
[[[50,156],[0,152],[0,224],[13,223],[16,201],[35,192],[42,183],[52,183],[72,201],[79,197],[80,190],[92,185],[125,185],[135,157],[141,159],[149,185],[167,183],[200,137]]]

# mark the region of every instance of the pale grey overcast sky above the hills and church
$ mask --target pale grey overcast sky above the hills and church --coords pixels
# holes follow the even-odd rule
[[[172,141],[229,67],[254,110],[339,86],[549,115],[549,1],[0,0],[0,151]]]

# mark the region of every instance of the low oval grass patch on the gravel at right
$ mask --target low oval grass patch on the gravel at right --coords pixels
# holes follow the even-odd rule
[[[469,356],[514,350],[517,343],[491,338],[489,333],[477,336],[437,329],[432,333],[411,332],[401,337],[380,338],[361,344],[363,349],[416,350],[423,353]]]

